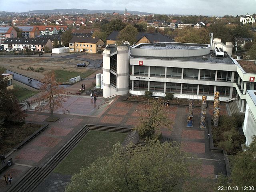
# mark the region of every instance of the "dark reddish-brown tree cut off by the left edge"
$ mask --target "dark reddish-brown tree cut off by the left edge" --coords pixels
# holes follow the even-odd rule
[[[19,101],[15,98],[13,90],[6,88],[8,80],[2,75],[0,69],[0,137],[4,135],[4,122],[24,121],[26,114],[20,109]]]

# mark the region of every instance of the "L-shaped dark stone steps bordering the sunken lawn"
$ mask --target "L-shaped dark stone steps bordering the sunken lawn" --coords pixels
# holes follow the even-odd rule
[[[60,163],[68,153],[78,144],[78,142],[90,131],[110,131],[130,133],[130,128],[111,127],[111,126],[98,126],[98,125],[86,125],[80,129],[52,158],[50,158],[44,166],[32,167],[28,172],[18,180],[7,192],[33,192],[36,187],[46,179],[46,177],[54,170],[54,168]]]

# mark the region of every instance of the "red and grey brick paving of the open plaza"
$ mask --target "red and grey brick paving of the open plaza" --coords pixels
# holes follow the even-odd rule
[[[123,102],[124,96],[119,96],[112,104],[101,109],[100,114],[93,115],[91,111],[94,107],[90,105],[89,97],[70,97],[72,100],[64,104],[72,109],[79,108],[78,115],[58,114],[54,116],[60,118],[57,122],[47,122],[49,127],[36,136],[20,150],[11,154],[14,166],[11,166],[5,173],[11,173],[13,182],[16,182],[30,166],[44,165],[53,154],[55,154],[68,140],[76,134],[85,124],[98,124],[108,126],[134,127],[139,122],[138,112],[144,113],[144,104]],[[99,102],[104,102],[100,99]],[[209,104],[207,112],[212,114],[212,103]],[[226,114],[226,108],[221,104],[221,114]],[[188,107],[166,106],[168,116],[174,121],[172,130],[161,128],[163,136],[182,142],[182,149],[191,153],[194,158],[202,160],[200,171],[202,177],[215,178],[219,173],[226,174],[224,156],[221,153],[211,152],[208,130],[199,128],[200,108],[194,109],[194,127],[186,127]],[[45,123],[48,113],[27,111],[26,121]],[[4,173],[2,173],[4,174]],[[42,182],[36,192],[64,192],[66,184],[70,182],[70,176],[52,173]],[[5,192],[10,186],[5,186],[1,182],[1,191]]]

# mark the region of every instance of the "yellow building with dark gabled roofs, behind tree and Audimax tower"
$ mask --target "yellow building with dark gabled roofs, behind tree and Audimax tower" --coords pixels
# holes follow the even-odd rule
[[[107,38],[106,38],[106,44],[115,44],[117,40],[119,31],[113,31]],[[155,43],[155,42],[174,42],[171,38],[168,38],[167,36],[163,34],[158,33],[144,33],[144,32],[138,32],[138,35],[136,37],[137,42],[135,44],[139,43]]]

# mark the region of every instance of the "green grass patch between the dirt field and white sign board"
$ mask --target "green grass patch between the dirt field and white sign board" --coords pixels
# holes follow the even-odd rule
[[[88,77],[90,74],[92,74],[94,70],[88,69],[86,72],[76,72],[76,71],[67,71],[67,70],[54,70],[56,80],[58,82],[64,83],[69,82],[69,79],[77,77],[80,75],[82,78]]]

